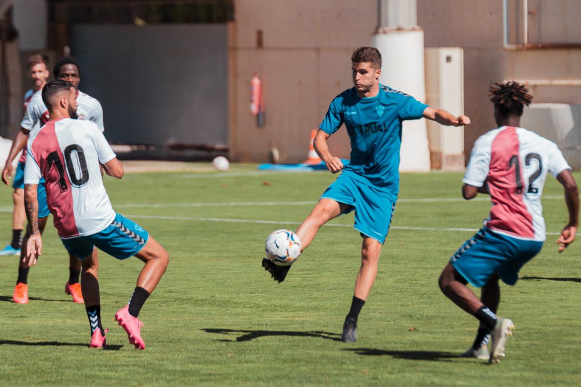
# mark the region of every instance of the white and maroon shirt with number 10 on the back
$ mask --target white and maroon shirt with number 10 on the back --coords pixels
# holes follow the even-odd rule
[[[46,180],[46,201],[63,239],[104,230],[115,218],[99,163],[116,157],[92,121],[49,121],[28,139],[24,184]]]

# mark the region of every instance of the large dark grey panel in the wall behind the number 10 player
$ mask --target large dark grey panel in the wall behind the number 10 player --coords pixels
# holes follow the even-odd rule
[[[225,24],[76,24],[71,55],[79,88],[103,106],[107,140],[227,146]]]

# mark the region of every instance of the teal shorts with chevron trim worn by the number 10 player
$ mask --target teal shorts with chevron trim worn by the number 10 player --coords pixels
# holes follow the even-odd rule
[[[84,259],[96,247],[117,259],[137,254],[147,243],[149,233],[133,222],[116,214],[113,222],[103,231],[82,237],[61,239],[69,254]]]

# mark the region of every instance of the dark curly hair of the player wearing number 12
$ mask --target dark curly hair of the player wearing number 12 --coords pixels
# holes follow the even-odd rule
[[[490,101],[498,109],[502,117],[514,114],[519,117],[525,106],[533,102],[533,96],[529,94],[525,85],[515,81],[508,81],[504,84],[494,83],[489,89]]]

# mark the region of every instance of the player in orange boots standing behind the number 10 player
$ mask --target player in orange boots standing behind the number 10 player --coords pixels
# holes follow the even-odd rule
[[[78,84],[81,81],[81,65],[76,59],[70,56],[62,57],[59,59],[55,67],[53,68],[53,75],[56,79],[63,79],[65,81],[71,81],[74,87],[77,89],[76,100],[78,103],[77,114],[80,120],[90,120],[95,122],[101,131],[104,131],[103,127],[103,109],[101,103],[98,100],[88,96],[87,94],[78,91]],[[21,149],[26,146],[28,136],[30,131],[33,130],[37,122],[40,121],[40,125],[44,125],[48,121],[48,110],[44,102],[42,101],[41,90],[34,93],[33,97],[28,103],[27,109],[24,113],[24,118],[20,124],[20,131],[16,134],[15,139],[10,148],[10,153],[8,155],[8,160],[6,160],[6,165],[2,171],[2,180],[7,181],[8,176],[12,173],[12,160],[16,157]],[[46,206],[46,196],[44,190],[44,180],[41,180],[41,184],[38,186],[38,198],[39,202],[39,227],[41,232],[44,231],[44,226],[46,225],[46,216],[50,214],[48,207]],[[26,255],[26,241],[30,236],[30,228],[27,227],[27,232],[24,235],[22,245],[23,251],[21,252],[21,257]],[[29,267],[24,266],[22,260],[19,262],[18,269],[18,279],[16,280],[16,286],[14,288],[14,293],[12,299],[16,303],[28,303],[28,271]],[[64,291],[67,294],[73,296],[73,301],[82,303],[83,294],[81,292],[81,285],[79,284],[79,276],[81,273],[81,262],[74,255],[69,255],[69,280],[64,285]]]

